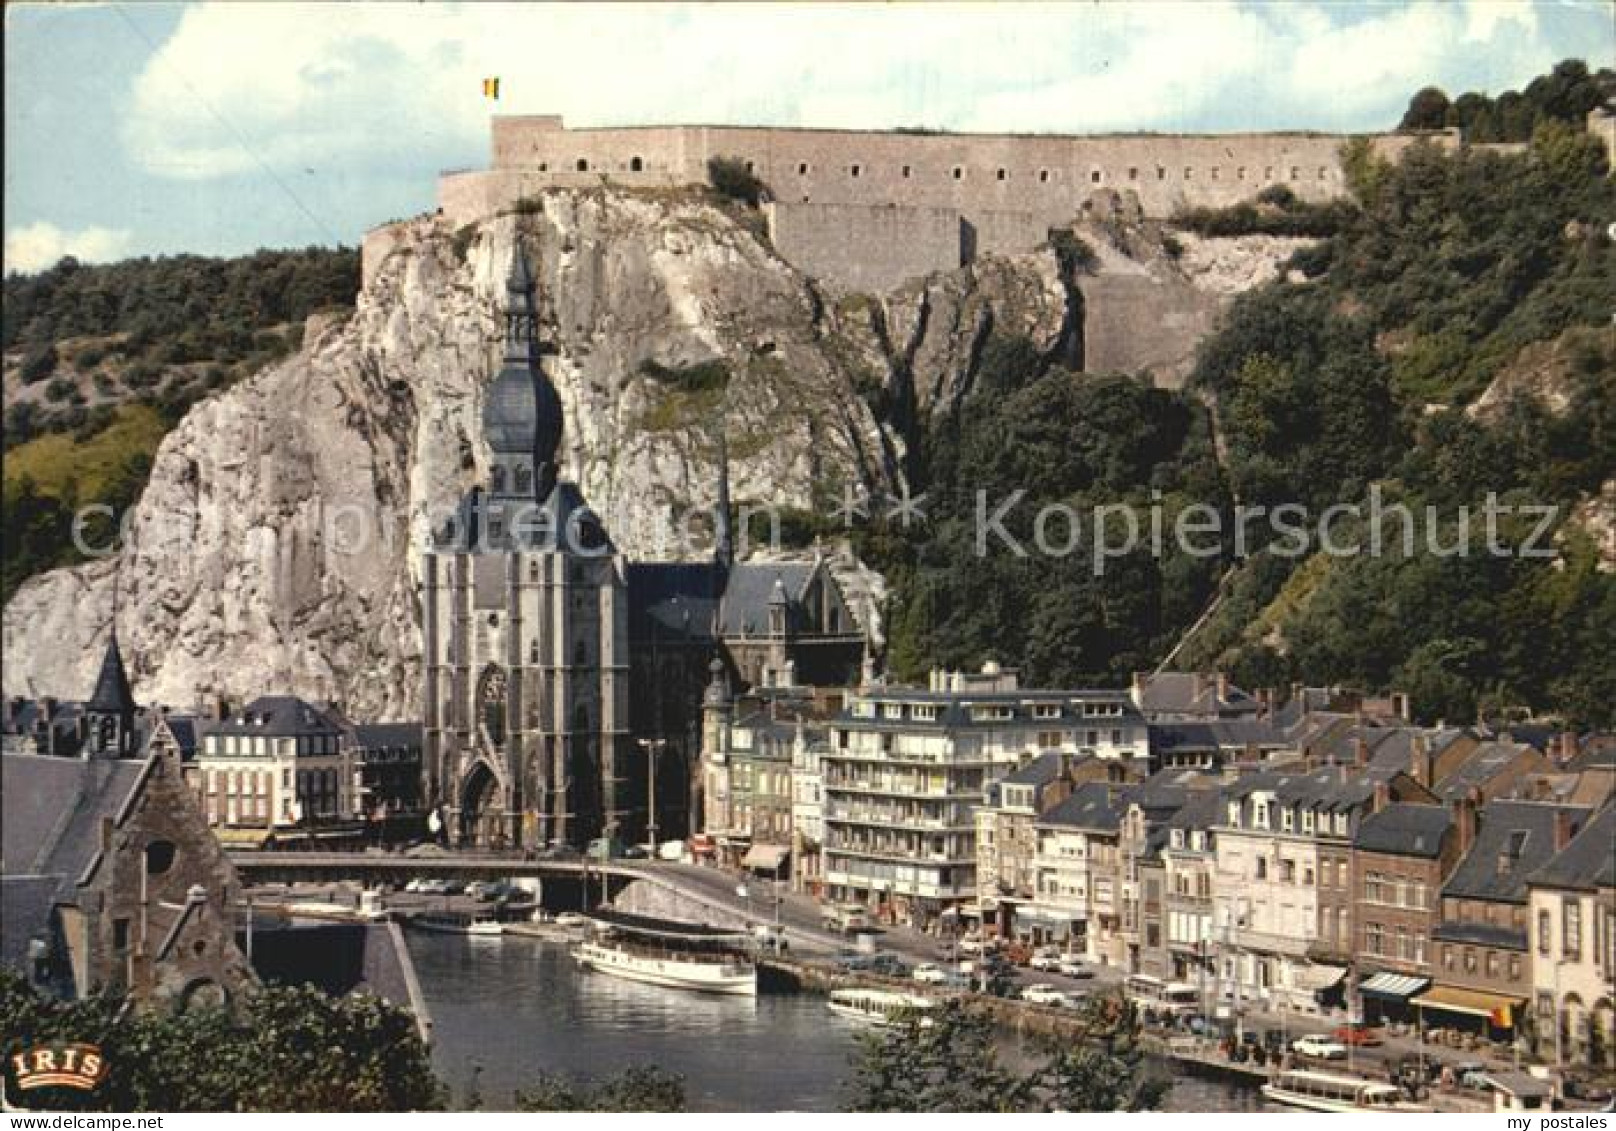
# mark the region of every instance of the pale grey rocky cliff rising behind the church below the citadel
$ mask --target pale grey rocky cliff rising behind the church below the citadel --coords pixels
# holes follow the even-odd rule
[[[415,713],[412,549],[485,470],[519,238],[566,473],[632,557],[700,553],[669,532],[713,504],[719,427],[737,502],[813,511],[844,485],[898,485],[905,433],[970,388],[989,333],[1081,357],[1081,299],[1049,250],[829,302],[745,220],[695,192],[553,191],[461,229],[396,226],[351,318],[312,320],[294,357],[170,433],[115,557],[16,593],[5,692],[84,695],[116,608],[142,701],[292,692]]]

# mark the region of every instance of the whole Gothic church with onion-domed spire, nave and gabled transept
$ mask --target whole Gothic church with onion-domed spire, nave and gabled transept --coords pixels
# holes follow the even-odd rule
[[[617,551],[559,475],[535,291],[519,250],[483,399],[488,480],[422,556],[427,797],[456,845],[680,835],[701,827],[709,664],[739,688],[847,685],[866,635],[823,561],[734,561],[722,483],[711,561]]]

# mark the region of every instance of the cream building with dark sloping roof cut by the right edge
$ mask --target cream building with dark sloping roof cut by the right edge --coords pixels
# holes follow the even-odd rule
[[[1616,1068],[1616,808],[1532,872],[1527,924],[1538,1057]]]

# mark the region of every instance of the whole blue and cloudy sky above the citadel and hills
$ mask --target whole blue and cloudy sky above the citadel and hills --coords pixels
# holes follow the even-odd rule
[[[5,270],[354,246],[486,165],[491,113],[1370,131],[1566,57],[1616,58],[1608,0],[8,3]]]

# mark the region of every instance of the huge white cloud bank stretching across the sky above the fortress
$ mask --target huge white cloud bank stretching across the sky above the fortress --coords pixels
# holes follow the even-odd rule
[[[1354,128],[1547,69],[1529,5],[234,5],[186,10],[123,137],[183,179],[465,158],[486,116],[957,129]],[[503,99],[482,99],[498,74]],[[1461,78],[1462,76],[1462,78]]]

